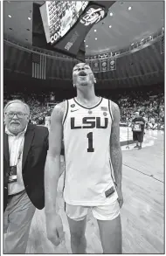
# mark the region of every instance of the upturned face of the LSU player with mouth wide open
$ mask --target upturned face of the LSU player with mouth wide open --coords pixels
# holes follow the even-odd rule
[[[86,63],[79,63],[73,67],[73,85],[76,87],[93,86],[95,79],[93,72]]]

